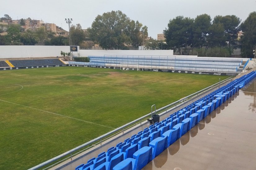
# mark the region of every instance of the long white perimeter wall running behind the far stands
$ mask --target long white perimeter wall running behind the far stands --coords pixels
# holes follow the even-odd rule
[[[44,45],[0,45],[0,58],[27,58],[27,57],[56,57],[61,56],[61,51],[69,52],[69,46],[44,46]],[[78,46],[78,52],[73,52],[74,56],[104,56],[104,55],[140,55],[140,56],[173,56],[177,58],[213,58],[197,57],[188,55],[173,55],[173,50],[84,50]],[[242,59],[248,58],[226,58],[218,59]]]

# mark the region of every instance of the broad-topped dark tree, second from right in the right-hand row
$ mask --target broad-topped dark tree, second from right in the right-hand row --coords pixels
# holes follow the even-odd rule
[[[233,53],[233,49],[237,48],[236,40],[238,38],[238,32],[240,31],[239,24],[241,19],[236,15],[217,15],[213,19],[213,23],[222,23],[224,27],[225,41],[228,42],[229,55]]]

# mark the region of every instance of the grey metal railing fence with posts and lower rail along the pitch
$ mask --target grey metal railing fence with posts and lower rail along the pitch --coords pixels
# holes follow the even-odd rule
[[[133,126],[141,124],[141,122],[146,121],[148,118],[150,118],[152,114],[155,114],[155,113],[156,114],[161,114],[161,113],[164,113],[164,112],[167,112],[167,111],[171,111],[171,110],[177,108],[178,106],[180,106],[181,104],[188,103],[191,100],[195,99],[196,97],[204,95],[205,93],[213,90],[214,88],[219,88],[219,87],[221,87],[221,85],[223,85],[225,83],[228,83],[231,80],[232,80],[232,77],[229,77],[229,78],[227,78],[225,80],[219,81],[218,83],[213,84],[212,86],[206,87],[203,90],[197,91],[197,92],[195,92],[195,93],[193,93],[193,94],[191,94],[189,96],[186,96],[186,97],[184,97],[184,98],[182,98],[180,100],[177,100],[176,102],[173,102],[171,104],[168,104],[167,106],[159,108],[156,111],[153,111],[153,112],[151,112],[149,114],[146,114],[143,117],[140,117],[140,118],[138,118],[138,119],[136,119],[136,120],[126,124],[126,125],[123,125],[123,126],[117,128],[115,130],[112,130],[112,131],[110,131],[110,132],[108,132],[108,133],[106,133],[106,134],[104,134],[104,135],[102,135],[102,136],[100,136],[98,138],[95,138],[95,139],[93,139],[93,140],[91,140],[89,142],[86,142],[83,145],[80,145],[80,146],[78,146],[78,147],[76,147],[76,148],[74,148],[74,149],[72,149],[70,151],[67,151],[67,152],[65,152],[65,153],[63,153],[61,155],[58,155],[58,156],[56,156],[56,157],[54,157],[52,159],[49,159],[49,160],[43,162],[42,164],[39,164],[39,165],[37,165],[37,166],[35,166],[33,168],[30,168],[29,170],[36,170],[38,168],[42,168],[42,167],[45,167],[47,165],[48,165],[48,167],[44,168],[43,170],[49,169],[49,168],[51,168],[51,167],[53,167],[53,166],[55,166],[57,164],[60,164],[61,162],[65,161],[67,159],[70,159],[70,158],[72,159],[72,157],[74,155],[77,155],[77,154],[79,154],[79,153],[81,153],[83,151],[86,151],[86,150],[88,150],[89,148],[91,148],[93,146],[101,144],[102,142],[106,141],[107,139],[112,138],[115,135],[120,134],[120,133],[124,132],[127,129],[130,129]],[[92,144],[93,144],[93,146],[92,146]],[[70,155],[70,156],[67,156],[67,155]],[[58,161],[58,162],[56,162],[54,164],[51,164],[52,162],[55,162],[55,161]],[[51,165],[49,166],[49,164],[51,164]]]

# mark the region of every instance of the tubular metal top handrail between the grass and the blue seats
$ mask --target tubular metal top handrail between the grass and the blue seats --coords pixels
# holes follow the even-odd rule
[[[184,97],[184,98],[185,98],[185,99],[188,99],[188,98],[192,99],[193,97],[198,96],[198,95],[201,94],[201,93],[203,94],[205,91],[209,91],[209,90],[211,90],[213,87],[218,87],[219,84],[224,84],[224,83],[230,81],[231,79],[232,79],[232,77],[229,77],[229,78],[227,78],[227,79],[225,79],[225,80],[222,80],[221,82],[215,83],[215,84],[213,84],[213,85],[211,85],[211,86],[209,86],[209,87],[206,87],[206,88],[204,88],[204,89],[202,89],[202,90],[200,90],[200,91],[197,91],[197,92],[195,92],[195,93],[193,93],[193,94],[191,94],[191,95],[189,95],[189,96],[186,96],[186,97]],[[156,113],[159,112],[159,111],[167,111],[167,109],[170,108],[170,106],[173,106],[173,105],[177,106],[177,105],[181,104],[180,101],[182,101],[182,100],[183,100],[184,103],[185,103],[184,98],[182,98],[182,99],[180,99],[180,100],[177,100],[177,101],[175,101],[175,102],[173,102],[173,103],[171,103],[171,104],[168,104],[168,105],[166,105],[166,106],[164,106],[164,107],[162,107],[162,108],[159,108],[159,109],[155,110],[154,112],[151,110],[151,113],[146,114],[145,116],[142,116],[142,117],[140,117],[140,118],[138,118],[138,119],[136,119],[136,120],[134,120],[134,121],[131,121],[131,122],[129,122],[129,123],[127,123],[127,124],[125,124],[125,125],[123,125],[123,126],[117,128],[117,129],[115,129],[115,130],[112,130],[112,131],[110,131],[110,132],[108,132],[108,133],[106,133],[106,134],[104,134],[104,135],[101,135],[101,136],[98,137],[98,138],[92,139],[92,140],[89,141],[89,142],[86,142],[86,143],[84,143],[84,144],[82,144],[82,145],[80,145],[80,146],[78,146],[78,147],[75,147],[74,149],[71,149],[70,151],[67,151],[67,152],[65,152],[65,153],[63,153],[63,154],[61,154],[61,155],[58,155],[58,156],[56,156],[56,157],[54,157],[54,158],[52,158],[52,159],[49,159],[49,160],[47,160],[47,161],[45,161],[45,162],[43,162],[43,163],[41,163],[41,164],[39,164],[39,165],[37,165],[37,166],[34,166],[33,168],[28,169],[28,170],[36,170],[36,169],[38,169],[38,168],[41,168],[41,167],[43,167],[43,166],[45,166],[45,165],[47,165],[47,164],[50,164],[50,163],[52,163],[52,162],[58,160],[58,159],[60,159],[60,158],[62,158],[62,157],[64,157],[64,156],[66,156],[66,155],[70,155],[70,154],[72,154],[73,152],[78,151],[79,149],[82,149],[83,147],[86,147],[86,146],[88,146],[88,145],[90,145],[90,144],[92,144],[92,143],[94,143],[94,142],[96,142],[96,141],[98,141],[98,140],[101,140],[102,138],[106,138],[106,137],[109,136],[110,134],[116,133],[116,132],[118,132],[119,130],[124,130],[125,127],[130,126],[130,125],[132,125],[132,124],[134,124],[134,123],[136,123],[136,122],[138,122],[138,121],[141,121],[141,120],[143,120],[143,119],[145,119],[145,118],[151,116],[153,113],[156,114]],[[189,100],[186,100],[186,101],[188,102]],[[151,108],[152,108],[152,107],[151,107]],[[160,113],[161,113],[161,112],[160,112]],[[61,161],[60,161],[60,162],[61,162]]]

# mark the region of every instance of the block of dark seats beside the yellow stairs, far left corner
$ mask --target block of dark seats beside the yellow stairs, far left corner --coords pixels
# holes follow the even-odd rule
[[[35,60],[9,60],[15,67],[26,66],[46,66],[46,65],[61,65],[63,62],[59,59],[35,59]]]

